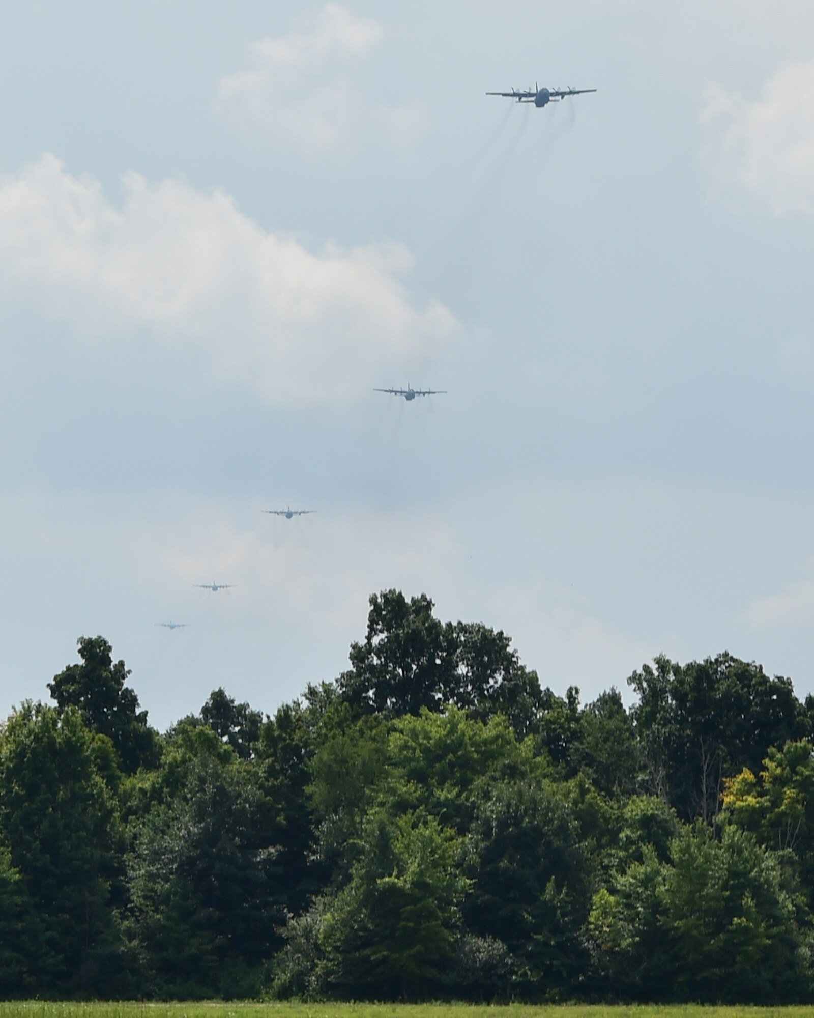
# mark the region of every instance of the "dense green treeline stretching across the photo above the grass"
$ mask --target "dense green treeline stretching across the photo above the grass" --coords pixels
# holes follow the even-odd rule
[[[583,705],[389,590],[335,682],[159,734],[79,659],[0,729],[6,998],[814,998],[814,700],[758,665]]]

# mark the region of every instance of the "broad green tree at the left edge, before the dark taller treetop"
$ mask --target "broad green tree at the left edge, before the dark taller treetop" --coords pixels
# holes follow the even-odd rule
[[[13,894],[28,903],[36,920],[25,969],[40,994],[105,996],[126,984],[114,909],[120,839],[105,776],[111,753],[109,741],[89,731],[71,706],[60,715],[23,703],[2,732],[6,887],[19,888]]]

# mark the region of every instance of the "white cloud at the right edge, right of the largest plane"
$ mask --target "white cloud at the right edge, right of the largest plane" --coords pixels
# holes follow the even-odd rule
[[[711,84],[700,120],[703,156],[719,184],[777,216],[814,212],[814,60],[780,67],[751,103]]]

